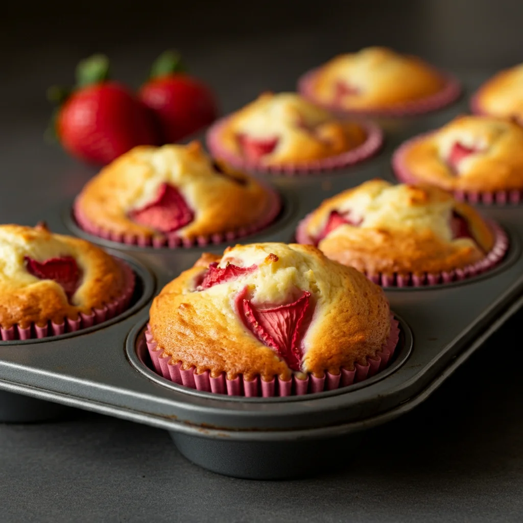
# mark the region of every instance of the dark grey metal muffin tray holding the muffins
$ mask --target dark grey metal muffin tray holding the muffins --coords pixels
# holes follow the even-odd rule
[[[472,88],[476,86],[469,86]],[[405,139],[435,129],[467,98],[437,113],[378,120],[385,146],[376,157],[317,176],[263,176],[285,203],[278,220],[243,243],[290,242],[299,220],[348,187],[393,180],[391,154]],[[169,431],[191,461],[222,474],[257,479],[325,469],[333,456],[355,451],[366,429],[424,401],[523,305],[523,206],[479,206],[507,231],[504,261],[483,275],[427,288],[388,288],[401,325],[391,365],[376,376],[334,391],[285,398],[245,398],[198,392],[168,382],[149,367],[143,330],[153,295],[202,252],[226,246],[154,249],[100,240],[79,230],[71,201],[28,217],[51,230],[83,236],[126,259],[138,276],[132,307],[104,324],[41,340],[0,343],[0,419],[35,421],[75,406]],[[493,371],[499,355],[492,355]],[[52,403],[50,403],[52,402]]]

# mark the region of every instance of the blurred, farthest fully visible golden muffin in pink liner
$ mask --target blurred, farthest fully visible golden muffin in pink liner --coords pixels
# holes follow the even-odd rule
[[[390,114],[433,110],[460,92],[456,81],[423,60],[383,47],[336,56],[302,77],[299,90],[335,110]]]

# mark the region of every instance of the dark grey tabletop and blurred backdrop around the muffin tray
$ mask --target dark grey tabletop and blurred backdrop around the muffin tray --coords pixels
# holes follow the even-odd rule
[[[42,139],[46,87],[71,83],[91,52],[138,86],[158,53],[178,47],[228,112],[374,43],[488,74],[523,60],[522,16],[518,2],[472,0],[11,4],[0,18],[0,219],[24,222],[95,172]],[[0,425],[0,521],[519,521],[522,320],[356,453],[325,456],[337,470],[313,479],[218,476],[179,456],[164,431],[80,411]]]

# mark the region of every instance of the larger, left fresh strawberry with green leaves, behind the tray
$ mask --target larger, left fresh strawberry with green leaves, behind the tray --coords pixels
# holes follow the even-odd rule
[[[87,162],[107,164],[137,145],[156,145],[154,116],[123,85],[108,80],[106,56],[78,64],[71,93],[57,87],[49,98],[61,104],[54,131],[64,149]]]

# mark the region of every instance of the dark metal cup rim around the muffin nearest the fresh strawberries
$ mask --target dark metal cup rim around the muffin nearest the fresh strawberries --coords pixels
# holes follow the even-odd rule
[[[216,248],[216,247],[226,247],[227,245],[235,244],[235,243],[253,243],[256,241],[269,241],[269,240],[263,240],[264,236],[269,236],[271,234],[275,234],[282,229],[284,229],[287,225],[289,225],[292,221],[292,219],[297,215],[298,212],[298,201],[297,197],[292,194],[290,191],[282,191],[279,188],[271,187],[272,190],[274,190],[281,201],[281,209],[278,212],[276,218],[269,223],[266,227],[263,229],[259,229],[255,232],[246,234],[244,236],[237,236],[232,238],[232,240],[227,240],[226,238],[223,241],[220,242],[213,242],[209,241],[209,243],[206,243],[204,245],[199,245],[198,243],[195,243],[194,245],[191,245],[189,247],[186,247],[184,245],[178,245],[174,247],[169,247],[168,245],[162,246],[162,247],[153,247],[151,245],[147,246],[141,246],[134,243],[124,243],[124,242],[115,242],[113,240],[107,240],[106,238],[102,238],[100,236],[96,236],[94,234],[90,234],[84,229],[81,228],[81,226],[76,221],[75,215],[74,215],[74,201],[67,204],[65,209],[62,212],[62,221],[64,225],[66,226],[69,231],[71,231],[75,236],[81,237],[84,240],[87,240],[89,242],[95,243],[97,245],[101,245],[103,247],[109,248],[109,249],[125,249],[126,251],[135,251],[135,252],[141,252],[141,253],[149,253],[149,254],[167,254],[167,253],[202,253],[205,251],[208,251],[209,249]],[[252,240],[252,241],[251,241]]]

